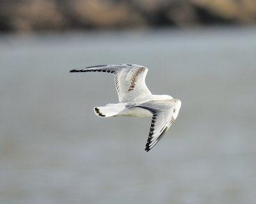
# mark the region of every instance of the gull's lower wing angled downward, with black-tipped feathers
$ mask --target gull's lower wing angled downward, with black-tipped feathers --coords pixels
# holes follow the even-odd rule
[[[147,152],[161,140],[164,133],[170,128],[179,114],[180,106],[181,102],[179,99],[148,101],[146,103],[141,103],[138,106],[149,110],[153,114],[148,141],[145,148]]]

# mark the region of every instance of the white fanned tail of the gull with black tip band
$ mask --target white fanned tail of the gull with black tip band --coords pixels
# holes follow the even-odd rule
[[[118,115],[119,112],[124,110],[125,106],[118,103],[118,104],[111,104],[106,106],[94,107],[94,112],[99,117],[111,117]]]

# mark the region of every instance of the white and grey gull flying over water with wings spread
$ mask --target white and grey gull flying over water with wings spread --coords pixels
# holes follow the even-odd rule
[[[119,103],[97,106],[99,117],[152,117],[145,150],[148,152],[177,118],[181,107],[179,99],[168,95],[153,95],[145,84],[148,69],[137,64],[111,64],[72,69],[70,72],[104,72],[115,76]]]

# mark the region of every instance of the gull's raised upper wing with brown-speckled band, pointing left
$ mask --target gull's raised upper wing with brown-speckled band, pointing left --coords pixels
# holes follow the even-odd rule
[[[111,64],[70,70],[70,72],[87,71],[113,73],[115,75],[119,102],[151,95],[151,92],[145,84],[148,69],[143,66],[137,64]]]

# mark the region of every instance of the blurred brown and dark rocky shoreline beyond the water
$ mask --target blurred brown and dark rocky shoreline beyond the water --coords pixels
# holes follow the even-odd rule
[[[22,0],[0,2],[0,32],[250,25],[256,1]]]

